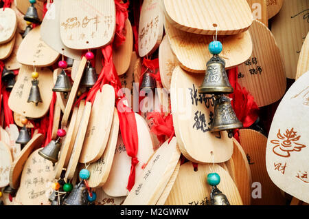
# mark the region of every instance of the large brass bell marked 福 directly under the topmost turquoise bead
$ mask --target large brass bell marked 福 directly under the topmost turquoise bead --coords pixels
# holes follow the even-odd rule
[[[213,56],[207,62],[204,81],[198,88],[200,94],[231,94],[233,87],[225,72],[225,61],[219,56]]]

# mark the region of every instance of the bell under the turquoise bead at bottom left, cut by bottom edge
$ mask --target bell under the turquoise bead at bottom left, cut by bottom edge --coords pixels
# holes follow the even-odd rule
[[[81,181],[74,186],[71,194],[63,201],[63,205],[88,205],[87,194],[87,187],[84,181]]]

